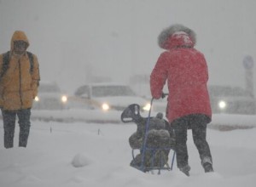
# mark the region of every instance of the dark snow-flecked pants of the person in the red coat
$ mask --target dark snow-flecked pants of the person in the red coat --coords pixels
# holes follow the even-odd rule
[[[187,129],[192,129],[193,140],[201,158],[201,164],[212,163],[212,155],[207,143],[207,123],[209,118],[196,114],[183,116],[172,122],[176,136],[177,167],[189,165],[187,148]]]

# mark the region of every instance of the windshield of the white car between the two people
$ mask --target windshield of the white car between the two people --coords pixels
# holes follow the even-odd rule
[[[131,88],[127,86],[95,86],[91,88],[91,94],[93,97],[135,95]]]

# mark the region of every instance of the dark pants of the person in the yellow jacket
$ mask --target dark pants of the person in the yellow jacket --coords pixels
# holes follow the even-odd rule
[[[19,146],[26,147],[30,130],[31,109],[18,111],[4,111],[2,109],[5,148],[14,146],[16,115],[19,118],[18,123],[20,125]]]

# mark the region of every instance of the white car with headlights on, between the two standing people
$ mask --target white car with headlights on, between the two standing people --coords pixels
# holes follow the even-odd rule
[[[79,87],[71,102],[85,104],[90,109],[102,111],[124,111],[128,105],[141,105],[143,111],[149,111],[150,102],[137,96],[129,86],[117,83],[94,83]]]

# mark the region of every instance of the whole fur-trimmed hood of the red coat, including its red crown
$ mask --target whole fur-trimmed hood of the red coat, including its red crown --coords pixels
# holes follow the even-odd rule
[[[183,37],[180,37],[180,39],[173,38],[174,33],[177,33],[180,35],[187,35],[189,37],[189,40],[182,40]],[[164,49],[170,49],[175,46],[183,45],[183,46],[189,46],[194,47],[196,43],[196,37],[195,37],[195,31],[189,29],[186,26],[175,24],[172,26],[167,27],[163,31],[160,32],[160,35],[158,37],[158,44],[160,48]]]

